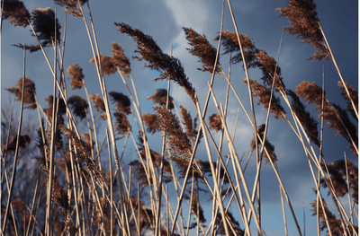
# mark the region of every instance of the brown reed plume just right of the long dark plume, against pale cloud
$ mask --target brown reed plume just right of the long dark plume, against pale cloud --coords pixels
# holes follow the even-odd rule
[[[185,28],[183,30],[188,40],[188,44],[192,48],[186,48],[193,56],[199,57],[199,62],[202,63],[202,68],[198,70],[208,71],[212,74],[213,66],[215,65],[216,60],[216,49],[210,44],[208,39],[204,34],[200,35],[196,31],[193,31],[192,28]],[[219,58],[216,64],[215,73],[220,73],[220,64]]]

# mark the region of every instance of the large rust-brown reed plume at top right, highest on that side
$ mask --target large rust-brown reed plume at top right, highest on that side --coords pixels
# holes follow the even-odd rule
[[[289,18],[291,26],[285,27],[287,33],[297,34],[302,39],[301,42],[316,48],[316,52],[308,60],[330,58],[329,50],[322,40],[316,4],[312,0],[290,0],[284,8],[277,8],[276,11],[280,12],[280,17]]]

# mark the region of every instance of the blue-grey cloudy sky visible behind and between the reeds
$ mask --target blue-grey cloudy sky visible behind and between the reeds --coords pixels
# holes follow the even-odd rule
[[[330,47],[335,55],[339,69],[343,74],[345,81],[358,87],[358,2],[355,0],[347,1],[315,1],[320,18],[320,23],[329,40]],[[51,7],[55,4],[50,1],[29,0],[25,2],[28,10],[31,12],[35,8]],[[238,31],[248,35],[253,39],[257,48],[265,49],[271,57],[277,56],[281,28],[288,26],[288,19],[279,18],[276,8],[283,8],[287,1],[232,1],[231,2]],[[216,48],[217,41],[212,41],[220,31],[221,1],[205,0],[133,0],[133,1],[91,1],[90,7],[94,17],[94,26],[97,39],[100,45],[100,51],[103,55],[111,55],[111,42],[116,41],[124,48],[127,57],[135,56],[132,52],[136,46],[130,37],[121,35],[113,22],[125,22],[140,31],[147,33],[157,41],[157,45],[164,52],[170,53],[171,45],[174,46],[173,56],[181,60],[185,73],[189,76],[190,82],[203,104],[204,96],[208,92],[207,81],[211,79],[211,74],[202,73],[196,68],[202,65],[198,63],[198,58],[188,53],[189,48],[184,36],[182,27],[193,28],[198,33],[204,33],[211,44]],[[61,7],[57,7],[59,23],[64,26],[64,13]],[[63,32],[64,27],[61,29]],[[234,31],[234,26],[229,15],[229,7],[225,4],[224,11],[224,30]],[[4,22],[1,37],[1,98],[2,103],[12,101],[9,93],[4,88],[12,87],[22,76],[23,71],[23,51],[14,48],[11,45],[17,43],[35,44],[36,41],[31,37],[30,28],[14,28],[9,22]],[[311,81],[321,84],[322,67],[325,67],[325,83],[329,101],[336,102],[343,108],[346,107],[346,101],[341,97],[341,91],[338,89],[338,73],[331,61],[307,61],[315,52],[311,45],[300,43],[296,36],[284,34],[283,44],[280,52],[279,66],[282,68],[284,83],[287,88],[295,89],[302,81]],[[50,48],[47,48],[49,57],[52,56]],[[93,57],[90,50],[90,44],[87,39],[84,22],[72,16],[67,16],[67,39],[65,50],[64,65],[77,63],[83,68],[85,74],[85,83],[89,93],[100,93],[97,75],[95,74],[94,64],[89,63]],[[229,56],[221,56],[220,63],[226,68],[229,65]],[[40,104],[45,107],[46,101],[43,99],[52,93],[52,78],[49,68],[40,52],[28,53],[26,62],[26,76],[31,78],[36,84],[36,91]],[[141,111],[143,114],[153,112],[151,101],[146,98],[153,94],[158,88],[166,88],[166,83],[153,83],[152,80],[157,76],[148,69],[142,68],[143,62],[130,59],[131,74],[134,78],[136,88],[139,94]],[[261,77],[258,69],[249,70],[250,78],[257,79]],[[246,101],[247,111],[250,111],[248,103],[247,86],[240,81],[245,78],[242,65],[235,65],[231,68],[231,81],[238,94],[241,94],[243,101]],[[121,83],[118,75],[111,75],[106,78],[108,92],[124,92],[126,89]],[[215,92],[218,100],[224,102],[226,86],[224,79],[215,79]],[[68,95],[76,93],[85,96],[82,91],[70,91]],[[176,105],[183,105],[186,109],[191,109],[192,116],[195,116],[195,109],[192,101],[186,96],[182,88],[172,85],[171,96]],[[284,101],[282,101],[285,107]],[[238,101],[234,96],[230,96],[229,101],[229,124],[235,124],[238,112]],[[265,122],[266,112],[257,106],[257,124]],[[313,106],[309,105],[312,115],[317,118],[317,112],[313,112]],[[31,111],[32,112],[32,111]],[[216,109],[211,103],[208,115],[215,113]],[[35,113],[30,113],[30,116]],[[36,114],[35,114],[36,115]],[[306,234],[313,235],[316,231],[316,219],[311,216],[310,203],[315,199],[311,188],[313,180],[309,170],[309,165],[304,155],[302,144],[293,134],[292,129],[283,121],[275,120],[271,115],[268,139],[275,145],[275,153],[278,158],[277,166],[279,173],[284,180],[285,188],[292,200],[295,214],[302,225],[302,205],[306,211]],[[232,127],[231,127],[232,126]],[[105,124],[103,124],[105,127]],[[233,130],[233,125],[229,125]],[[232,132],[232,131],[230,131]],[[335,136],[334,131],[326,128],[324,133],[324,155],[327,162],[334,162],[344,158],[344,152],[347,158],[351,159],[357,165],[357,157],[353,157],[347,150],[347,142],[341,136]],[[238,155],[247,158],[249,152],[249,142],[253,135],[243,110],[240,110],[237,135],[235,142],[238,145]],[[216,136],[216,135],[215,135]],[[219,138],[219,136],[217,136]],[[154,138],[154,140],[156,140]],[[154,147],[152,147],[154,146]],[[151,142],[150,147],[157,149],[156,142]],[[160,149],[157,149],[160,151]],[[319,151],[318,151],[319,152]],[[131,153],[131,151],[129,151]],[[197,156],[205,154],[202,146]],[[255,165],[254,161],[249,164],[247,170],[248,184],[252,186]],[[266,235],[284,234],[281,202],[279,197],[278,182],[275,179],[274,171],[271,166],[263,165],[261,174],[261,188],[263,197],[262,226]],[[323,191],[327,195],[327,189]],[[203,198],[203,204],[211,206],[211,202],[206,203]],[[326,198],[328,199],[328,198]],[[346,199],[347,200],[347,199]],[[329,201],[329,200],[328,200]],[[347,202],[347,201],[345,201]],[[175,206],[173,206],[175,207]],[[202,206],[204,209],[206,207]],[[233,207],[233,213],[238,211]],[[335,211],[334,211],[335,213]],[[286,212],[289,223],[289,235],[296,235],[293,219],[289,211]],[[239,221],[241,219],[239,218]],[[252,224],[252,232],[256,228]],[[243,224],[241,223],[241,227]]]

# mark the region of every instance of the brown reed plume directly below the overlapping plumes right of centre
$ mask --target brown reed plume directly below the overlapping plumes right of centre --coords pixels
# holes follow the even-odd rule
[[[257,96],[257,104],[263,104],[263,109],[268,109],[270,105],[270,97],[271,97],[271,90],[266,88],[266,86],[257,83],[255,80],[250,79],[251,89],[254,91],[252,93],[253,97]],[[247,83],[247,79],[242,80],[243,83]],[[285,116],[285,110],[283,106],[280,104],[280,99],[276,98],[273,94],[271,105],[270,105],[270,112],[274,113],[274,118],[283,118],[287,120]]]

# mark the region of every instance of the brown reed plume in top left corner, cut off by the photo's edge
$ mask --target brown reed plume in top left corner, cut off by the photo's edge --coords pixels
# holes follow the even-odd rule
[[[4,2],[4,3],[3,3]],[[3,20],[9,20],[14,26],[21,26],[26,28],[29,25],[31,14],[29,13],[23,1],[19,0],[2,0],[1,5],[4,4]]]

